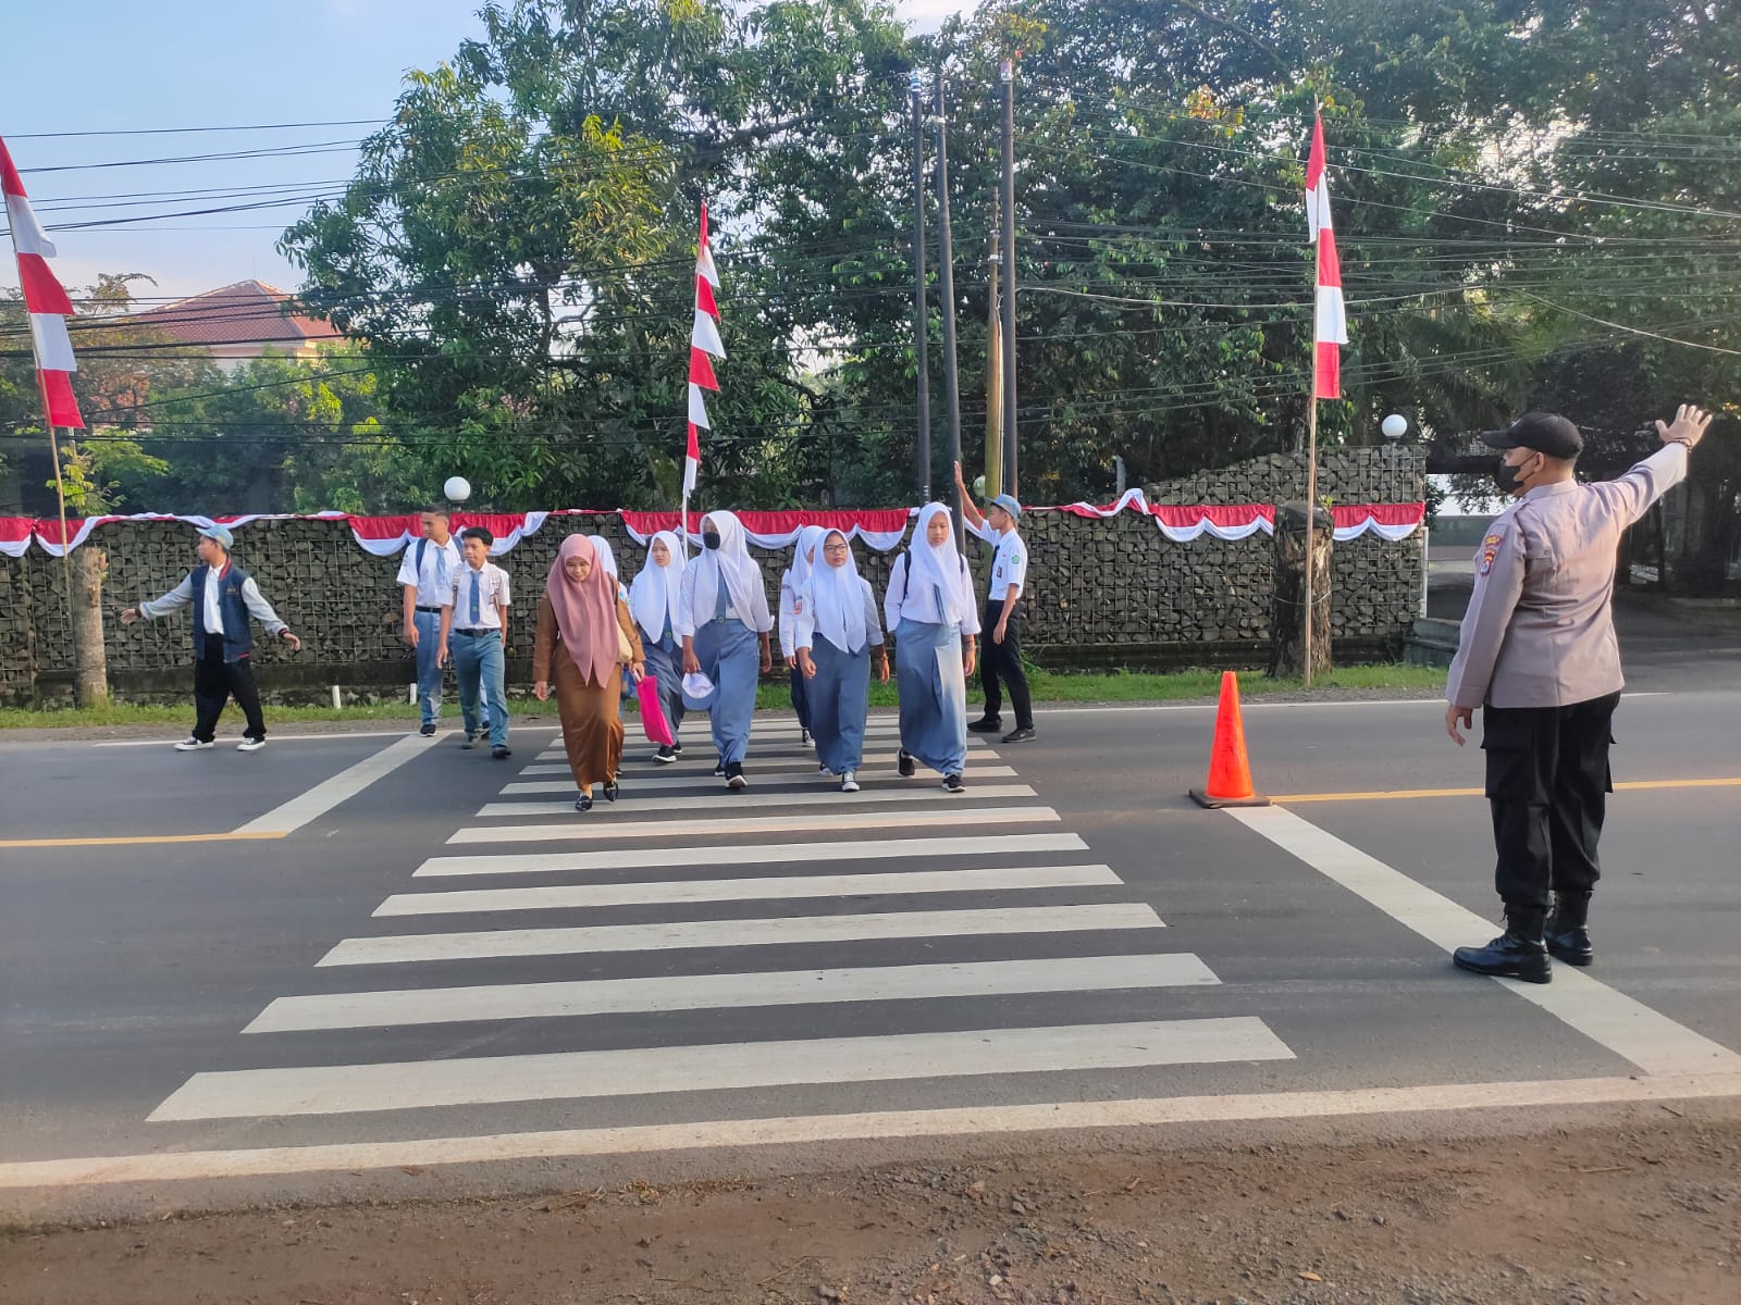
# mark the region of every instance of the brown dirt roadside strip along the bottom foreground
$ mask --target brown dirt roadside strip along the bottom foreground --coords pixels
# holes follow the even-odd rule
[[[1734,1305],[1741,1122],[1220,1143],[0,1235],[7,1305]]]

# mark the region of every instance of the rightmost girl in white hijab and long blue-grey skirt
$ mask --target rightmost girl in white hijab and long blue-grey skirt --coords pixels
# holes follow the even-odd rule
[[[944,788],[966,788],[968,682],[973,673],[978,614],[973,576],[956,550],[949,508],[926,503],[912,543],[890,571],[883,618],[895,635],[895,686],[900,694],[900,755],[904,776],[924,762],[944,776]]]

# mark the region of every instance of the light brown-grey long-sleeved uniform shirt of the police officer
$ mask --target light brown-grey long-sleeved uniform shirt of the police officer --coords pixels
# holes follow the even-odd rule
[[[1475,555],[1447,701],[1570,706],[1619,693],[1621,532],[1685,475],[1687,447],[1664,444],[1619,480],[1537,485],[1501,512]]]

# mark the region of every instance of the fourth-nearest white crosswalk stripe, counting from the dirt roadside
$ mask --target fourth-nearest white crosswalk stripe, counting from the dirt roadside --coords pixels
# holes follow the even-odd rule
[[[1121,882],[1109,865],[1025,865],[973,870],[959,867],[954,870],[883,870],[855,875],[550,884],[463,893],[395,893],[374,908],[374,915],[472,915],[496,910],[585,910],[674,901],[864,898],[905,893],[1010,893],[1036,887],[1107,887]]]

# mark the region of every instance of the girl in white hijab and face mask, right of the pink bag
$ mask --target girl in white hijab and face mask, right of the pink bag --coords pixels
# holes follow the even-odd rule
[[[742,792],[749,786],[743,759],[756,717],[756,682],[773,670],[773,616],[743,524],[729,512],[702,519],[702,555],[682,569],[676,632],[682,640],[682,673],[709,680],[700,696],[686,689],[684,703],[709,713],[719,750],[714,774]]]

